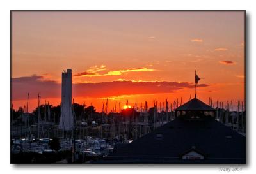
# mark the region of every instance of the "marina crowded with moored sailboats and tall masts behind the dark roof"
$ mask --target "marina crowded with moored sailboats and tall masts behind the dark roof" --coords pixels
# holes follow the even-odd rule
[[[68,71],[72,72],[71,69]],[[63,73],[65,74],[66,71]],[[66,77],[63,76],[63,78],[65,80]],[[72,78],[72,76],[68,78]],[[63,83],[66,84],[66,82]],[[65,88],[66,86],[63,86],[63,96],[68,96],[65,94],[67,93]],[[106,99],[106,103],[102,106],[102,112],[99,113],[95,111],[92,104],[86,107],[84,103],[83,105],[74,103],[74,99],[70,103],[71,94],[69,99],[63,98],[59,106],[52,106],[46,101],[41,104],[40,98],[41,96],[38,94],[38,107],[33,113],[28,113],[26,110],[28,105],[24,106],[23,110],[22,108],[16,111],[11,109],[11,148],[14,155],[26,152],[41,155],[70,152],[71,155],[66,156],[66,158],[70,158],[68,159],[69,163],[76,163],[76,161],[79,161],[77,163],[86,163],[92,159],[96,160],[111,155],[116,148],[124,147],[143,138],[158,127],[163,127],[182,115],[192,114],[191,111],[202,106],[205,107],[205,109],[201,108],[203,112],[196,113],[197,116],[194,115],[191,119],[198,119],[199,115],[204,114],[244,137],[246,136],[243,101],[241,104],[238,101],[236,106],[233,106],[232,101],[231,104],[227,101],[227,105],[223,106],[223,102],[213,102],[209,98],[209,105],[206,105],[195,96],[194,99],[183,105],[182,98],[180,103],[179,99],[175,99],[173,103],[166,99],[165,103],[160,103],[158,106],[157,101],[154,101],[152,108],[148,108],[147,101],[144,105],[141,103],[140,106],[137,103],[131,106],[127,101],[123,108],[118,103],[118,109],[116,101],[115,108],[108,112],[108,99]],[[27,99],[29,100],[29,94]],[[70,111],[63,107],[70,107]],[[234,108],[237,110],[235,111]],[[186,110],[189,112],[187,113]],[[63,119],[63,113],[65,113],[65,119]],[[70,124],[70,120],[73,124]],[[57,141],[55,150],[50,143],[53,139]]]

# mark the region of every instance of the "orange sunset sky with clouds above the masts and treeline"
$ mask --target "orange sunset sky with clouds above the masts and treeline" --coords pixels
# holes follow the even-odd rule
[[[12,12],[12,103],[29,111],[61,102],[61,72],[73,71],[72,96],[124,106],[194,96],[244,101],[244,12]],[[216,105],[216,104],[215,104]]]

